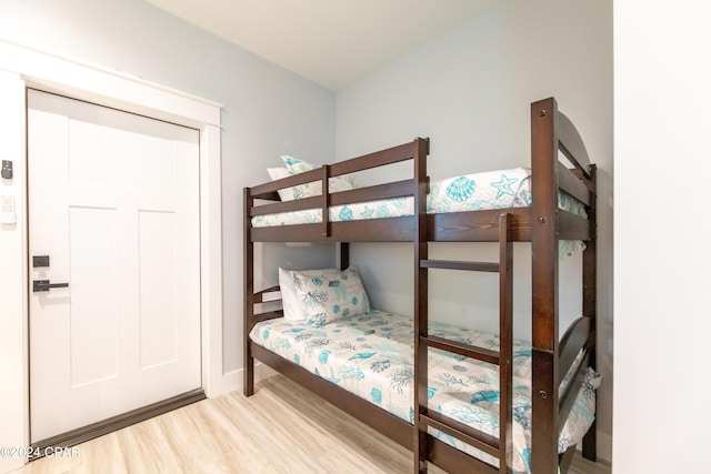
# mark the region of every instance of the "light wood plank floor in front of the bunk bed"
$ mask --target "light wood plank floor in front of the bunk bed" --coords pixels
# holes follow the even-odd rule
[[[412,471],[412,453],[278,375],[246,399],[232,392],[193,403],[43,457],[14,474],[303,474]],[[433,474],[442,470],[431,467]],[[610,474],[577,456],[571,474]]]

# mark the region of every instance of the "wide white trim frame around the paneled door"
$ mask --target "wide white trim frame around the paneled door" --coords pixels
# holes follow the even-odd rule
[[[140,78],[92,64],[46,54],[0,41],[0,95],[12,99],[0,111],[0,123],[21,123],[9,133],[13,137],[7,150],[0,148],[3,160],[14,163],[10,185],[3,181],[3,192],[17,198],[17,224],[3,224],[0,241],[8,242],[16,259],[3,265],[0,300],[8,314],[6,335],[0,336],[0,359],[13,361],[9,383],[12,389],[0,399],[0,420],[19,422],[11,413],[22,413],[22,425],[12,423],[0,428],[0,445],[29,444],[29,361],[28,361],[28,274],[27,248],[27,129],[26,89],[28,87],[59,93],[101,105],[113,107],[159,120],[196,128],[200,131],[200,299],[201,299],[201,369],[202,389],[207,396],[217,396],[233,389],[233,381],[222,370],[222,218],[221,218],[221,110],[222,105],[196,95],[156,84]],[[0,134],[2,139],[2,134]],[[17,141],[16,141],[17,140]],[[21,145],[18,145],[21,143]],[[0,143],[1,145],[1,143]],[[9,191],[8,191],[9,190]],[[4,250],[3,250],[4,252]],[[18,294],[19,293],[19,294]],[[7,321],[4,321],[7,319]],[[21,335],[22,340],[18,337]],[[4,344],[4,343],[8,344]],[[16,364],[21,364],[16,365]],[[7,415],[7,416],[6,416]],[[21,457],[0,460],[0,472],[20,467]]]

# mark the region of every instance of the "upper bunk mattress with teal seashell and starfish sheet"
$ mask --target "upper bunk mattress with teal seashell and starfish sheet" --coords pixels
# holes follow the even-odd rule
[[[587,216],[584,205],[565,193],[559,193],[559,206],[577,215]],[[430,183],[427,212],[481,211],[487,209],[525,208],[531,205],[531,170],[513,168],[464,174]],[[412,196],[333,205],[330,222],[365,219],[401,218],[413,214]],[[279,212],[252,218],[252,226],[313,224],[322,220],[321,209]],[[581,241],[560,241],[561,256],[584,249]]]

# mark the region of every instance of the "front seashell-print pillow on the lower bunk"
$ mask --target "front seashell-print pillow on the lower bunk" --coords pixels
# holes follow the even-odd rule
[[[307,323],[312,326],[370,311],[370,301],[357,266],[316,276],[302,272],[291,274]]]

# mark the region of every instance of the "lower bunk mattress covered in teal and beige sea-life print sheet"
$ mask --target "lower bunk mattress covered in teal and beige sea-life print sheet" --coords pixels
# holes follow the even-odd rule
[[[430,322],[430,334],[498,350],[497,335]],[[343,317],[313,327],[284,319],[258,323],[250,339],[264,349],[413,423],[413,323],[381,311]],[[573,372],[568,380],[572,380]],[[565,382],[564,382],[565,383]],[[589,370],[559,438],[559,452],[578,444],[594,418],[600,377]],[[428,404],[457,421],[499,435],[499,369],[484,362],[429,350]],[[513,460],[517,473],[530,472],[531,346],[513,344]],[[497,458],[440,432],[443,442],[498,466]]]

